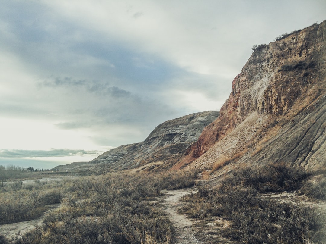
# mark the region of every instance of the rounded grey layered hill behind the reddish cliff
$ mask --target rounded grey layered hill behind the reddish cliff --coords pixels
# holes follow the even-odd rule
[[[103,167],[106,170],[150,166],[171,168],[185,150],[198,140],[204,127],[218,116],[217,111],[206,111],[166,121],[157,126],[143,142],[111,149],[89,164],[96,164],[96,168]]]

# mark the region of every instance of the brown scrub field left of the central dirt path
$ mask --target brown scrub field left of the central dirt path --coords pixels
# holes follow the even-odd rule
[[[57,182],[7,184],[2,188],[2,223],[36,218],[43,224],[15,243],[173,243],[174,228],[154,197],[163,188],[194,186],[198,172],[111,173]],[[5,241],[5,240],[4,240]]]

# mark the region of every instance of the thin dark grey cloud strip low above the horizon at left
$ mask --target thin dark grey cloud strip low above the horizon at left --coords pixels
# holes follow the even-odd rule
[[[22,157],[65,157],[96,155],[99,151],[70,150],[70,149],[51,149],[51,150],[22,150],[22,149],[0,149],[0,157],[22,158]]]

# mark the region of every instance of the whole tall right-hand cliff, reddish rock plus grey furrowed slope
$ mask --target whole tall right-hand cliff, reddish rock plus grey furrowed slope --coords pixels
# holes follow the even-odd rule
[[[207,167],[217,158],[286,161],[326,159],[326,20],[253,50],[232,82],[220,116],[175,169]],[[235,160],[234,160],[235,161]]]

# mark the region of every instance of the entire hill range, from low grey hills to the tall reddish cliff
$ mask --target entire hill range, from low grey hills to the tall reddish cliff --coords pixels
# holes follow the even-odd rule
[[[143,142],[58,167],[94,173],[211,169],[220,160],[217,176],[243,163],[326,166],[326,20],[252,49],[220,112],[166,121]]]

